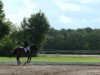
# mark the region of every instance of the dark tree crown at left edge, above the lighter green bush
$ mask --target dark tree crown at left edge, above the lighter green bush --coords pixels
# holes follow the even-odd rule
[[[3,11],[3,3],[0,1],[0,39],[7,35],[10,31],[10,22],[5,19]]]

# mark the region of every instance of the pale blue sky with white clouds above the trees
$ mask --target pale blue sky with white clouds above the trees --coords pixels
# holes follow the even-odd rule
[[[100,28],[100,0],[2,0],[6,18],[20,25],[41,10],[55,29]]]

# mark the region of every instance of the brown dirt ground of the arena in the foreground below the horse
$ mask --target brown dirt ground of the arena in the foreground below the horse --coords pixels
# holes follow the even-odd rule
[[[100,66],[0,64],[0,75],[100,75]]]

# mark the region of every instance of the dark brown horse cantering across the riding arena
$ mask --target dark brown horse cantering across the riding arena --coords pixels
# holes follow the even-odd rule
[[[36,53],[37,53],[37,46],[36,45],[31,45],[30,46],[30,51],[28,51],[28,52],[25,52],[24,48],[21,48],[21,47],[15,48],[14,51],[13,51],[12,56],[16,56],[16,60],[17,60],[18,65],[21,64],[21,61],[20,61],[21,57],[23,57],[23,56],[27,57],[27,61],[24,63],[24,65],[25,65],[26,63],[31,62],[32,54],[34,55]]]

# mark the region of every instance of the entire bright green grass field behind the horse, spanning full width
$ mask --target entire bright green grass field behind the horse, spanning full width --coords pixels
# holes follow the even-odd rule
[[[25,61],[26,58],[21,58]],[[0,62],[16,61],[16,58],[0,57]],[[100,62],[100,56],[39,56],[33,57],[32,62]]]

